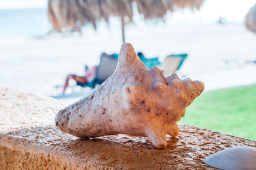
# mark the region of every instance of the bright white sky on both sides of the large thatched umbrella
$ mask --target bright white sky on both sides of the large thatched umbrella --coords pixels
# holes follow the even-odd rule
[[[177,12],[173,16],[176,20],[193,19],[212,20],[225,17],[227,20],[241,21],[255,0],[205,0],[200,11]],[[0,9],[8,8],[38,8],[46,7],[47,0],[8,0],[0,3]]]

